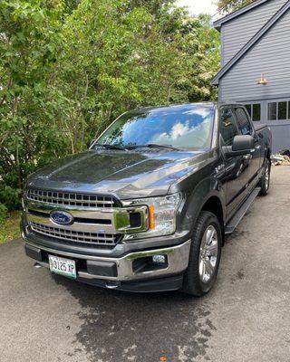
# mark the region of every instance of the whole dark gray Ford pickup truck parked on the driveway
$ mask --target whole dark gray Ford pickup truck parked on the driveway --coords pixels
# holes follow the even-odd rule
[[[87,151],[28,178],[25,252],[96,286],[202,296],[225,235],[267,194],[271,142],[241,104],[124,113]]]

